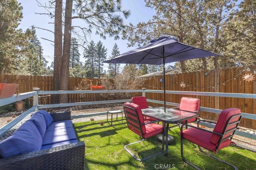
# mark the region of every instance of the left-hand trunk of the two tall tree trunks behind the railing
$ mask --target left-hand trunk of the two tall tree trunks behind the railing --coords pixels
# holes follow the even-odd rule
[[[54,16],[54,70],[53,90],[60,90],[60,76],[62,65],[62,0],[56,0]],[[58,94],[53,95],[54,104],[59,102]]]

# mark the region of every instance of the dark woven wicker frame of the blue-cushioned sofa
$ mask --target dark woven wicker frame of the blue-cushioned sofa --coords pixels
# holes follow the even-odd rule
[[[70,119],[70,111],[51,113],[54,121]],[[17,127],[16,127],[17,128]],[[59,147],[0,158],[2,170],[83,170],[84,142],[76,142]]]

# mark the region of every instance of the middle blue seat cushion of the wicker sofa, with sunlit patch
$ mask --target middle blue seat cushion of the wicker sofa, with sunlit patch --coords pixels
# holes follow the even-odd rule
[[[42,146],[60,143],[64,141],[71,141],[76,139],[76,133],[73,127],[63,129],[55,129],[54,131],[46,130],[43,138]]]

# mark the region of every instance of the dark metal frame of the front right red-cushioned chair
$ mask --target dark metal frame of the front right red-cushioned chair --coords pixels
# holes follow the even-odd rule
[[[238,121],[230,122],[231,119],[234,118],[234,117],[239,117]],[[196,129],[200,129],[200,130],[202,130],[202,131],[207,131],[207,132],[209,132],[209,133],[219,135],[219,136],[220,136],[220,139],[219,139],[218,145],[216,146],[216,150],[218,150],[218,147],[220,146],[220,143],[222,143],[222,142],[225,141],[226,139],[230,139],[230,141],[232,140],[232,137],[234,136],[234,133],[235,133],[236,129],[239,129],[239,128],[238,128],[238,124],[240,123],[241,118],[242,118],[242,114],[237,114],[237,115],[230,116],[230,118],[228,119],[228,121],[227,121],[226,124],[225,124],[225,127],[224,127],[222,133],[216,133],[216,132],[209,131],[209,130],[207,130],[207,129],[202,129],[202,128],[199,127],[200,121],[205,121],[205,122],[208,122],[208,123],[215,123],[215,124],[216,124],[216,122],[212,122],[212,121],[200,120],[200,121],[198,121],[198,123],[197,123],[198,127],[195,127],[195,126],[192,126],[192,125],[188,125],[188,124],[183,124],[183,125],[181,126],[181,129],[180,129],[180,145],[181,145],[181,156],[182,156],[182,160],[183,160],[184,162],[186,162],[187,164],[189,164],[190,166],[196,168],[197,170],[200,170],[200,168],[198,168],[198,167],[195,166],[194,164],[188,162],[188,160],[186,160],[186,158],[184,157],[184,154],[183,154],[183,141],[184,141],[184,140],[187,140],[187,139],[184,139],[184,138],[183,138],[183,135],[182,135],[182,128],[183,128],[183,126],[193,127],[193,128],[196,128]],[[234,124],[236,124],[234,128],[232,128],[232,129],[226,131],[226,128],[227,128],[229,125],[234,125]],[[233,131],[233,132],[232,132],[232,131]],[[226,135],[227,133],[230,133],[230,132],[232,132],[231,135],[229,135],[228,137],[223,138],[224,135]],[[194,143],[193,143],[193,144],[194,144]],[[230,163],[228,163],[228,162],[226,162],[226,161],[224,161],[224,160],[222,160],[222,159],[220,159],[220,158],[217,158],[216,156],[213,156],[213,155],[211,155],[211,154],[206,153],[205,151],[203,151],[203,150],[201,149],[201,147],[200,147],[199,145],[198,145],[198,148],[199,148],[200,152],[202,152],[202,153],[204,153],[204,154],[207,154],[208,156],[211,156],[212,158],[215,158],[216,160],[219,160],[220,162],[223,162],[224,164],[227,164],[227,165],[229,165],[229,166],[232,166],[232,167],[234,168],[234,170],[238,170],[238,168],[237,168],[236,166],[234,166],[234,165],[232,165],[232,164],[230,164]]]

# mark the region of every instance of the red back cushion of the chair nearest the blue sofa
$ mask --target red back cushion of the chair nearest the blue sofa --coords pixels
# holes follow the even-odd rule
[[[142,111],[140,109],[140,107],[137,105],[137,104],[134,104],[134,103],[130,103],[130,102],[126,102],[124,103],[124,106],[127,106],[127,107],[131,107],[133,109],[135,109],[136,111],[134,111],[133,109],[130,109],[130,108],[127,108],[127,107],[124,107],[124,110],[128,113],[132,113],[132,115],[130,114],[126,114],[127,117],[130,117],[131,119],[135,120],[136,123],[134,123],[133,121],[130,121],[129,119],[127,119],[128,123],[131,123],[132,125],[136,126],[136,127],[140,127],[140,123],[144,123],[144,118],[143,118],[143,115],[142,115]],[[139,120],[137,119],[136,117],[136,112],[138,113],[138,117],[139,117]],[[142,134],[146,133],[146,128],[145,128],[145,125],[142,125],[141,127],[141,131],[142,131]],[[138,135],[141,135],[140,134],[140,131],[138,131],[137,129],[134,129],[132,126],[129,126],[129,129],[131,129],[132,131],[134,131],[135,133],[137,133]]]

